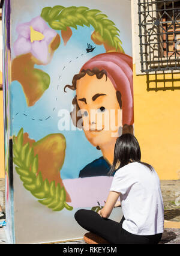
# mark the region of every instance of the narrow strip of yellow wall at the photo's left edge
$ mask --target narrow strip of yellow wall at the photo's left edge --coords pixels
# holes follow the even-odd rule
[[[2,72],[0,72],[0,84],[2,84]],[[4,178],[4,119],[3,119],[3,100],[0,91],[0,178]]]

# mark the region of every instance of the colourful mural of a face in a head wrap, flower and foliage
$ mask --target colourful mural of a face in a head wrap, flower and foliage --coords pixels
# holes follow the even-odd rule
[[[5,1],[13,13],[9,138],[14,186],[23,185],[37,212],[51,217],[49,210],[62,212],[73,219],[77,207],[98,210],[104,204],[116,138],[133,133],[131,49],[124,50],[113,10],[109,17],[95,2],[37,2],[34,11],[34,1]],[[27,7],[22,17],[15,10],[20,4]],[[129,1],[125,6],[130,19]],[[15,193],[14,209],[23,207],[17,202]]]

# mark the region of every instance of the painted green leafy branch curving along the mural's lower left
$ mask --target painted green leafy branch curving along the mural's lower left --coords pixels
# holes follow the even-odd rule
[[[29,142],[23,145],[23,129],[20,129],[17,138],[13,136],[13,154],[13,162],[17,165],[16,171],[23,181],[23,186],[38,198],[41,204],[56,212],[64,207],[73,210],[73,207],[65,202],[64,187],[59,183],[55,186],[55,181],[49,183],[47,178],[43,180],[41,172],[38,172],[38,155],[34,156],[34,150],[29,147]]]

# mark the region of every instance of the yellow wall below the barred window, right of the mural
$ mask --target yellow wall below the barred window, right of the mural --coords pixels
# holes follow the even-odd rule
[[[134,65],[134,135],[141,147],[142,161],[154,166],[161,180],[178,179],[180,90],[147,91],[146,75],[137,76],[135,69]],[[154,79],[154,75],[150,78]],[[171,76],[166,74],[167,78]],[[180,80],[180,74],[175,78]],[[179,85],[180,81],[175,82],[175,86]]]

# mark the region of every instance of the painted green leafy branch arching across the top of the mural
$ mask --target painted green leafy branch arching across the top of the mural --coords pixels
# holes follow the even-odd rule
[[[66,8],[56,5],[43,8],[41,17],[49,23],[51,28],[56,30],[66,31],[68,26],[77,29],[77,25],[88,27],[92,25],[104,41],[109,41],[116,50],[120,49],[121,52],[124,52],[121,46],[122,42],[118,37],[119,29],[100,10],[89,10],[88,7],[76,6]]]

